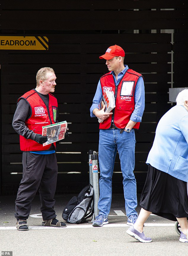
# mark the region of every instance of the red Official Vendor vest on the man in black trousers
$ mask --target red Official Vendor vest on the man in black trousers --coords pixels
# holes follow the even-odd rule
[[[34,131],[34,133],[42,134],[42,126],[54,124],[56,121],[56,114],[58,109],[58,102],[55,96],[49,95],[48,109],[35,90],[31,90],[23,94],[17,102],[24,98],[31,108],[31,116],[26,119],[26,126]],[[55,143],[53,143],[55,146]],[[20,149],[21,151],[44,151],[50,148],[51,144],[43,147],[42,144],[37,143],[32,139],[26,139],[20,135]]]

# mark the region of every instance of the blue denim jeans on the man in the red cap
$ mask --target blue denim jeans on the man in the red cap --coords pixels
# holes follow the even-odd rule
[[[100,166],[100,197],[99,214],[107,217],[111,207],[112,175],[114,161],[118,151],[123,174],[125,210],[127,216],[137,214],[136,179],[133,174],[135,167],[135,132],[129,133],[119,129],[100,130],[99,132],[99,166]]]

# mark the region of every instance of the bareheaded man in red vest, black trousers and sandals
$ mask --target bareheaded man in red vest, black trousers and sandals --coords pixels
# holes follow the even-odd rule
[[[55,143],[43,146],[47,136],[42,136],[42,126],[54,124],[58,117],[55,91],[56,76],[49,67],[39,69],[36,88],[26,92],[17,100],[12,126],[20,135],[20,149],[23,151],[23,178],[15,201],[17,230],[28,230],[27,219],[31,202],[39,188],[43,226],[65,227],[56,219],[54,210],[58,166]]]

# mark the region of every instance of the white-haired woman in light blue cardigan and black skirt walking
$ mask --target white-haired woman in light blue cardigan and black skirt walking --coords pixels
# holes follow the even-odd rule
[[[142,208],[136,223],[127,230],[143,243],[152,241],[143,232],[151,213],[177,220],[181,226],[179,241],[188,242],[188,89],[178,94],[176,103],[157,125],[146,161],[149,166],[141,194]]]

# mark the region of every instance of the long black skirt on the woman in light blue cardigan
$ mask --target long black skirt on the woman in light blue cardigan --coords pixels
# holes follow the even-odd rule
[[[149,165],[140,206],[171,221],[188,218],[187,182]]]

